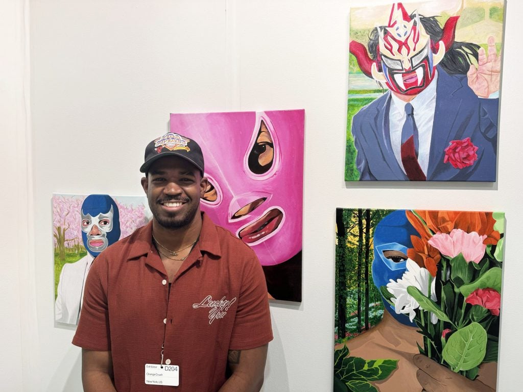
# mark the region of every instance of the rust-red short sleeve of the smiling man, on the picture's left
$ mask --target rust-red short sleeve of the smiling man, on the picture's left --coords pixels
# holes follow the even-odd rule
[[[107,306],[107,260],[98,256],[87,275],[84,302],[73,344],[87,350],[110,351],[109,310]]]

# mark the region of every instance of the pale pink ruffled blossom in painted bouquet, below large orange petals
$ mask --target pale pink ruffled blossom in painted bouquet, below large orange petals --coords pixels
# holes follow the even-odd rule
[[[447,257],[453,258],[461,253],[465,261],[477,264],[485,255],[486,245],[483,244],[483,240],[486,237],[476,232],[467,233],[462,229],[452,229],[450,234],[435,234],[428,243]]]

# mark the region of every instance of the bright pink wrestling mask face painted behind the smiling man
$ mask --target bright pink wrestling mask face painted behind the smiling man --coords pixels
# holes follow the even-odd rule
[[[210,182],[201,209],[264,266],[302,248],[304,111],[171,114],[198,141]]]

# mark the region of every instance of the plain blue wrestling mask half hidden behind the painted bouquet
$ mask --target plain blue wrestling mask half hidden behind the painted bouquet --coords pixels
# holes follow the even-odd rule
[[[372,280],[378,290],[390,280],[398,280],[407,269],[407,249],[412,248],[411,235],[418,233],[407,220],[405,210],[396,210],[385,216],[374,229],[374,260]],[[394,306],[382,296],[385,309],[401,324],[415,327],[408,315],[396,314]]]

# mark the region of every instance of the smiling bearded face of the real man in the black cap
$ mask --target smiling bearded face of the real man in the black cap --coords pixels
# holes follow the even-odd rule
[[[199,213],[207,179],[187,160],[168,156],[151,165],[142,187],[156,222],[174,229],[187,226]]]

